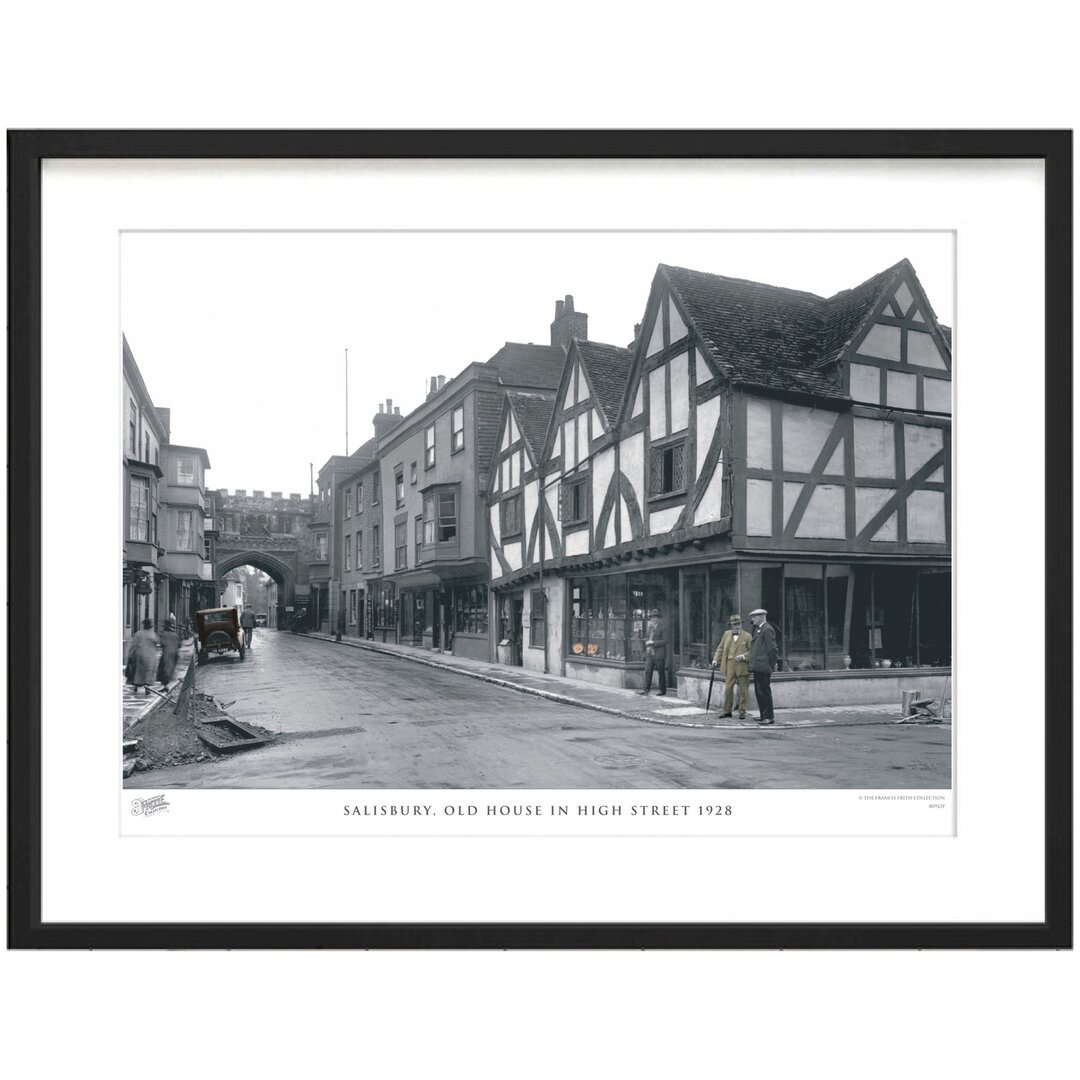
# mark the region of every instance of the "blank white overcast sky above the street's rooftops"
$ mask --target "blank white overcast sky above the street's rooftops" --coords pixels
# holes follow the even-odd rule
[[[902,258],[953,325],[948,233],[129,232],[121,326],[211,487],[307,494],[346,450],[346,349],[352,451],[386,399],[407,414],[432,375],[549,343],[568,293],[625,346],[658,262],[832,296]]]

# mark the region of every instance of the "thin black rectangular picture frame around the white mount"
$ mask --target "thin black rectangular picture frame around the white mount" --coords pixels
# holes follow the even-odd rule
[[[1030,923],[45,923],[41,166],[49,159],[1039,159],[1045,177],[1045,913]],[[1070,948],[1072,136],[1068,131],[8,133],[9,945],[16,948]]]

